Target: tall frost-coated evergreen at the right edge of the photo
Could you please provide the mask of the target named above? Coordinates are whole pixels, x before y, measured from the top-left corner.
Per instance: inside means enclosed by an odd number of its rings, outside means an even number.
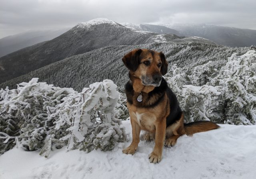
[[[221,92],[216,113],[222,113],[222,122],[229,124],[256,124],[256,51],[242,56],[236,53],[220,69],[212,84]]]

